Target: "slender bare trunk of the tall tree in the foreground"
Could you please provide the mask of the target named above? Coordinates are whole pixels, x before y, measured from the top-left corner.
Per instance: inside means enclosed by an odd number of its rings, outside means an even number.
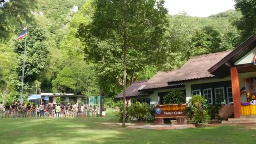
[[[123,36],[123,125],[122,127],[125,127],[125,117],[126,117],[126,104],[125,104],[125,96],[126,96],[126,53],[127,53],[127,48],[126,48],[126,20],[124,21],[124,36]]]

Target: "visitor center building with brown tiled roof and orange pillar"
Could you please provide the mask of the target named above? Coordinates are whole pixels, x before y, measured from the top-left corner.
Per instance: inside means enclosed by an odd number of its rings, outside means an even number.
[[[126,89],[126,98],[163,104],[163,96],[175,90],[183,91],[187,102],[202,95],[209,105],[222,104],[220,117],[235,117],[222,123],[256,122],[256,34],[233,51],[191,57],[180,69],[137,81]]]

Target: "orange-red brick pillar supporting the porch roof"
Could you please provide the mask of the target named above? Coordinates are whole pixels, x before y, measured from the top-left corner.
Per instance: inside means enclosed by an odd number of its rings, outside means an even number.
[[[231,75],[231,85],[233,94],[233,104],[234,104],[234,115],[235,118],[241,116],[241,100],[240,100],[240,87],[239,87],[239,77],[236,67],[230,68]]]

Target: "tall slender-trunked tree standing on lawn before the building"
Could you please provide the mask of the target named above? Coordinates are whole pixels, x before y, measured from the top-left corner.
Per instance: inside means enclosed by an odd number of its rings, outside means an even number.
[[[123,51],[123,127],[127,50],[139,50],[147,58],[153,54],[168,25],[167,13],[164,0],[96,0],[91,23],[78,29],[78,35],[92,48],[99,49],[97,43],[104,41]]]

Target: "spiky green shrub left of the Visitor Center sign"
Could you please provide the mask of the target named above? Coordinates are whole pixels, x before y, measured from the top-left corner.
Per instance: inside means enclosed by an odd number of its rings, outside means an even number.
[[[150,116],[149,104],[137,101],[136,103],[131,104],[127,109],[127,113],[131,117],[136,117],[138,122],[141,122],[142,119]]]

